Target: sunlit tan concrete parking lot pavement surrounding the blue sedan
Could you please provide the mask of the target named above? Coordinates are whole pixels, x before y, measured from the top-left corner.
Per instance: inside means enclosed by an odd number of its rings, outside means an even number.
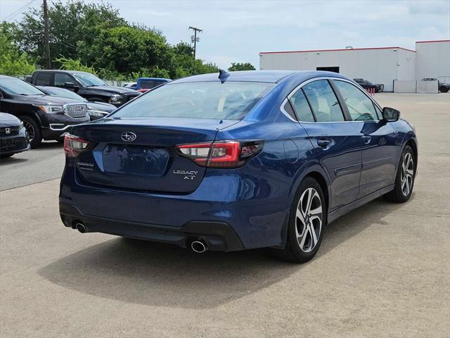
[[[450,94],[375,99],[416,125],[413,196],[331,223],[306,264],[79,234],[60,146],[2,163],[1,187],[54,180],[0,192],[0,337],[450,337]]]

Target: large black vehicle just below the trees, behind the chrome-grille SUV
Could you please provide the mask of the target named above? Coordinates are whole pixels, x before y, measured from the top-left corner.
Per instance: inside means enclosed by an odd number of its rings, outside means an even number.
[[[108,86],[96,75],[76,70],[37,70],[32,75],[31,83],[35,86],[63,87],[88,101],[106,102],[116,107],[139,96],[136,90]]]

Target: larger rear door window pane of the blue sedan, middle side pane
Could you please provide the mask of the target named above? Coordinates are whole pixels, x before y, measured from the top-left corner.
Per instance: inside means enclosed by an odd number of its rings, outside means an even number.
[[[327,80],[310,82],[303,87],[317,122],[345,121],[333,89]]]

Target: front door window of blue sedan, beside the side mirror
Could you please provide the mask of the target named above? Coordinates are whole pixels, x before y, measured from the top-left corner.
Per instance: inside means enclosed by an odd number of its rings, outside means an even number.
[[[342,98],[345,101],[352,120],[354,121],[373,121],[378,120],[375,107],[371,99],[361,92],[353,84],[344,81],[333,80]]]

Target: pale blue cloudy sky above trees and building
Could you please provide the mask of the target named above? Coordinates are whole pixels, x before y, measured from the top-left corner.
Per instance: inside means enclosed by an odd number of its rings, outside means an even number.
[[[28,2],[0,0],[0,19]],[[221,68],[231,62],[259,68],[260,51],[415,49],[416,41],[450,39],[450,0],[109,2],[130,22],[162,30],[171,44],[189,42],[190,25],[202,28],[197,56]],[[40,4],[35,0],[29,6]],[[12,21],[20,17],[18,13]]]

